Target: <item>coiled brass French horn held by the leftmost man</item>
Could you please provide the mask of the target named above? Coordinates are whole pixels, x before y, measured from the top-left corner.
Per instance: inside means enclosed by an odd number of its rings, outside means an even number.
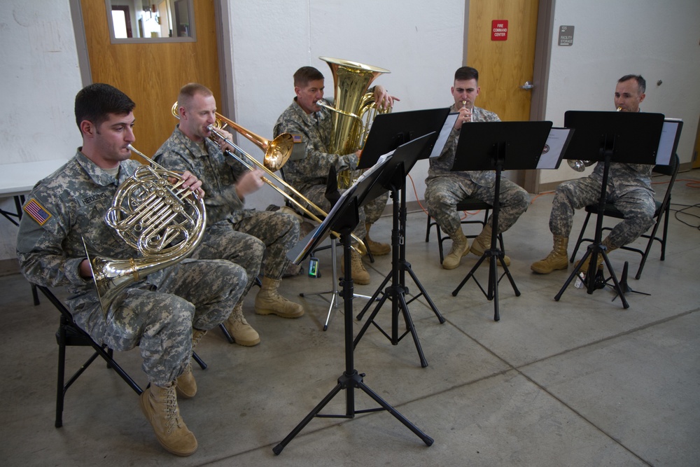
[[[91,258],[83,239],[97,297],[105,313],[123,288],[189,256],[202,241],[207,227],[204,200],[189,188],[181,188],[182,177],[133,146],[129,148],[156,168],[139,167],[117,188],[104,221],[141,256]],[[171,178],[176,179],[175,183],[169,181]]]

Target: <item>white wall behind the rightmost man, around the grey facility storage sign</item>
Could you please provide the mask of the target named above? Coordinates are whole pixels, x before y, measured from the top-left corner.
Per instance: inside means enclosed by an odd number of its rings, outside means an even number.
[[[575,26],[573,46],[558,46],[561,25]],[[678,157],[689,162],[700,117],[699,26],[697,0],[557,0],[545,118],[561,126],[568,110],[612,111],[617,80],[640,74],[640,108],[684,120]],[[543,170],[540,182],[576,178],[565,166]]]

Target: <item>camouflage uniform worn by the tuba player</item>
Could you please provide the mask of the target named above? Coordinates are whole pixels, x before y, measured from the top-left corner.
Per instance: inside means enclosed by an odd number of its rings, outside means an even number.
[[[285,181],[325,212],[330,211],[331,207],[330,202],[325,199],[330,168],[335,167],[336,172],[341,172],[346,169],[354,170],[358,164],[355,153],[328,153],[331,132],[332,116],[328,109],[322,107],[318,112],[307,114],[297,104],[296,98],[274,124],[274,136],[282,133],[292,134],[295,140],[295,154],[301,151],[303,155],[297,160],[293,160],[293,155],[284,165],[282,171]],[[365,223],[373,224],[379,220],[387,200],[388,193],[359,209],[360,221],[353,230],[358,238],[365,238],[367,235]]]

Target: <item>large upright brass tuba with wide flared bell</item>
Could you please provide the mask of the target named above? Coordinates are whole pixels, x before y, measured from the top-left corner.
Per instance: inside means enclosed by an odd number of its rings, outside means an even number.
[[[391,71],[337,58],[319,58],[328,63],[335,87],[335,106],[323,99],[316,102],[333,112],[328,152],[339,155],[354,153],[362,148],[377,113],[391,112],[391,109],[377,109],[374,96],[367,92],[377,76]],[[352,179],[351,171],[340,172],[338,188],[348,188]]]

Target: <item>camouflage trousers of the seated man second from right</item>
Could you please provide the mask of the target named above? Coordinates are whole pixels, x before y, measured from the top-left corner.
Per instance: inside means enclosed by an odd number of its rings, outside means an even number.
[[[439,177],[428,181],[426,187],[426,207],[428,213],[435,218],[437,225],[453,234],[461,229],[460,214],[457,212],[457,203],[469,197],[493,204],[493,187],[480,186],[468,179],[454,179],[451,177]],[[508,180],[500,180],[500,211],[498,211],[498,233],[505,232],[523,214],[530,204],[530,196],[516,183]],[[493,216],[488,223],[493,227]]]

